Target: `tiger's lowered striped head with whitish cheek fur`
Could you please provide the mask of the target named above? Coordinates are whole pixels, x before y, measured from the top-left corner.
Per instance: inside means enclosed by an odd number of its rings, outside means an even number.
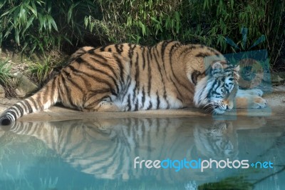
[[[197,82],[194,103],[197,107],[224,114],[234,106],[239,80],[239,66],[221,64],[217,61],[209,66],[206,76]]]

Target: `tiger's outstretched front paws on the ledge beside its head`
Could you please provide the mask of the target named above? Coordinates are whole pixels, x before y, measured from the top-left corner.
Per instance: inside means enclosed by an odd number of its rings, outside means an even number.
[[[262,109],[266,107],[267,101],[261,96],[263,91],[260,89],[248,89],[237,91],[236,103],[237,108],[248,108],[248,109]]]

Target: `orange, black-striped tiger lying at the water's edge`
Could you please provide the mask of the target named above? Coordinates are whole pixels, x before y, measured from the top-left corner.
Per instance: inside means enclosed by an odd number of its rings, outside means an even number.
[[[259,89],[238,87],[239,66],[208,46],[161,41],[78,49],[46,86],[6,109],[0,124],[57,102],[79,111],[140,111],[194,106],[214,114],[266,106]]]

